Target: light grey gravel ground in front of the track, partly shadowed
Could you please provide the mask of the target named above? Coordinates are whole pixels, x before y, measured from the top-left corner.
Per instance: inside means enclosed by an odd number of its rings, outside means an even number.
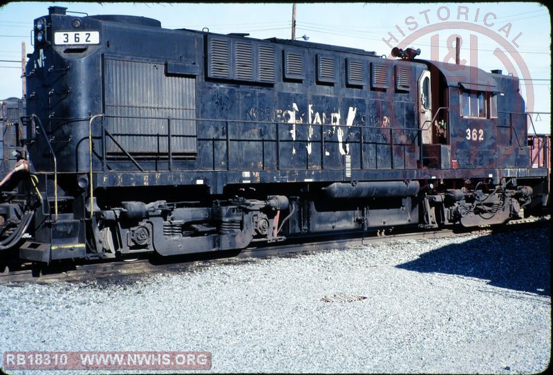
[[[210,351],[211,372],[532,374],[550,362],[549,228],[206,264],[0,286],[0,351]]]

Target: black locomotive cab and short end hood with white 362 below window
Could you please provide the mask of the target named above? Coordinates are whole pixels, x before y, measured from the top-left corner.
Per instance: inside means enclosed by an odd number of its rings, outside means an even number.
[[[525,163],[527,145],[521,140],[527,124],[518,79],[471,66],[427,65],[419,80],[422,167]]]

